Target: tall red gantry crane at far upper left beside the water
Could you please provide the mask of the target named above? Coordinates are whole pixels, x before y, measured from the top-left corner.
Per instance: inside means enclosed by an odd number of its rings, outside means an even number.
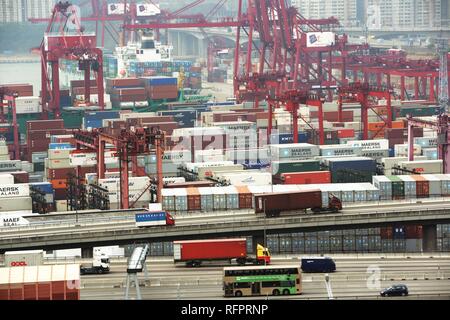
[[[68,25],[74,25],[70,31]],[[103,53],[96,48],[95,34],[84,34],[76,10],[69,2],[58,2],[52,12],[40,47],[42,118],[48,119],[50,113],[55,119],[61,116],[59,59],[76,60],[79,69],[84,71],[84,97],[90,100],[91,70],[96,78],[99,106],[104,108]]]

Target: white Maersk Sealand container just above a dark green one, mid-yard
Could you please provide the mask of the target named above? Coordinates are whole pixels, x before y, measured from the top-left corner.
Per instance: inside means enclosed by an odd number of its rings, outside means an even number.
[[[272,160],[308,159],[319,156],[320,149],[309,143],[272,144],[269,153]]]

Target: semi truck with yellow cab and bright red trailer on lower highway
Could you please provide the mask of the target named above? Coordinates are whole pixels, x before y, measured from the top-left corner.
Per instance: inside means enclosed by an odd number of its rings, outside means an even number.
[[[187,267],[200,267],[206,261],[270,264],[269,249],[258,244],[256,255],[249,255],[245,238],[174,241],[173,256],[174,263],[184,262]]]

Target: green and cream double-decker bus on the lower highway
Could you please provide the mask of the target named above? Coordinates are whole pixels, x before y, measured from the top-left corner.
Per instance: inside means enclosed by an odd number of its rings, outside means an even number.
[[[301,280],[295,265],[223,268],[225,297],[301,294]]]

